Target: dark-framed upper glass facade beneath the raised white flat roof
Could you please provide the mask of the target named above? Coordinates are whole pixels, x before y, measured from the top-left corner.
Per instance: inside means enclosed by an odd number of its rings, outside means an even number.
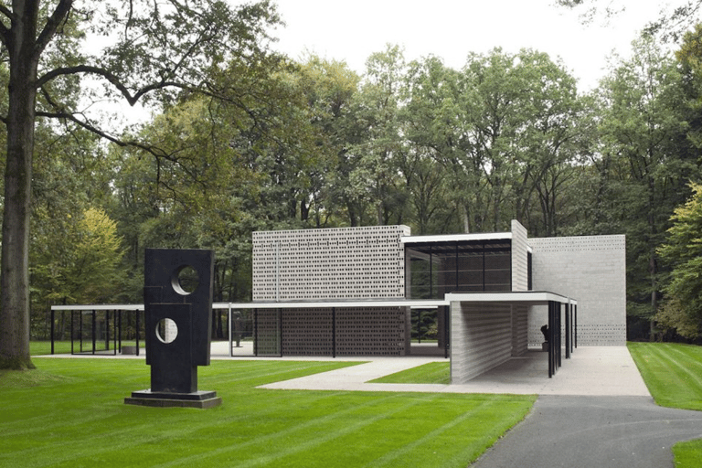
[[[511,252],[510,239],[407,244],[406,297],[443,299],[446,293],[511,291]]]

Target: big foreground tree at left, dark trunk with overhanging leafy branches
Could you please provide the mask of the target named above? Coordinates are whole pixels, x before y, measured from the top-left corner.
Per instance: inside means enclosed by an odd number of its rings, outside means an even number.
[[[261,38],[278,22],[264,1],[232,11],[224,1],[0,3],[0,55],[6,60],[5,202],[0,266],[0,367],[33,367],[29,357],[28,251],[34,130],[37,116],[70,120],[118,139],[83,118],[54,91],[90,75],[109,97],[130,104],[173,90],[204,90],[206,71],[231,56],[261,55]],[[90,32],[108,44],[81,56],[69,40]],[[93,43],[99,42],[92,37]],[[41,99],[37,99],[41,96]],[[157,154],[175,157],[173,154]]]

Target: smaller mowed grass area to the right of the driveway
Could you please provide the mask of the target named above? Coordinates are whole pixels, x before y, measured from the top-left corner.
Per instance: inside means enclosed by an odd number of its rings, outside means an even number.
[[[702,410],[702,347],[630,343],[629,350],[656,403]],[[702,440],[676,443],[673,454],[676,467],[702,466]]]

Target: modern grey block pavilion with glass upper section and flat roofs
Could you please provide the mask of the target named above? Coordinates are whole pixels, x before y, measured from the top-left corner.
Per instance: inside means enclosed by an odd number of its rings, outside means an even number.
[[[253,233],[256,356],[450,356],[452,383],[542,346],[626,341],[624,236],[411,236],[407,226]],[[429,320],[422,320],[421,317]],[[429,323],[431,345],[413,342]],[[421,336],[421,335],[420,335]]]

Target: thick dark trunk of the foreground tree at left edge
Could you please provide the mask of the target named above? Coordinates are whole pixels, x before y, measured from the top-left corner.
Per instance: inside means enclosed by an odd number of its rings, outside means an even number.
[[[16,8],[20,10],[22,8]],[[29,357],[29,217],[37,90],[36,5],[16,11],[8,41],[7,154],[0,262],[0,367],[32,368]]]

